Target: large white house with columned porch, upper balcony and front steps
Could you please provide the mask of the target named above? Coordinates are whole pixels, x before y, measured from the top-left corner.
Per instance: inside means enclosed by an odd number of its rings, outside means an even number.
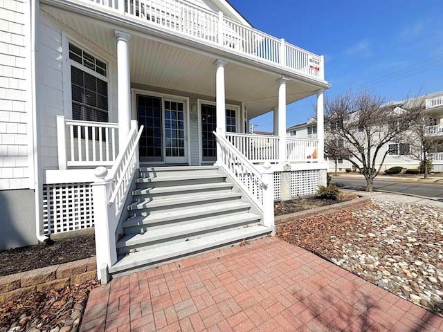
[[[323,57],[228,1],[10,0],[0,13],[0,250],[95,225],[98,275],[119,275],[272,233],[273,199],[325,183],[323,128],[284,136],[287,104],[317,95],[323,118]],[[264,138],[248,122],[271,110],[268,151],[251,159]]]

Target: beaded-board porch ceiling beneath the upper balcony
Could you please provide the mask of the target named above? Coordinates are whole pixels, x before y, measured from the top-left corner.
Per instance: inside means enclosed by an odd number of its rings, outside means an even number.
[[[287,104],[316,93],[321,88],[315,82],[288,75],[284,69],[263,66],[251,59],[217,48],[208,49],[204,44],[165,42],[152,31],[131,31],[109,21],[91,19],[75,12],[42,4],[42,10],[61,24],[69,35],[89,41],[95,48],[116,58],[114,29],[132,34],[130,42],[130,68],[132,84],[157,86],[174,91],[186,91],[201,98],[215,98],[215,61],[224,59],[226,100],[245,102],[248,117],[254,118],[278,106],[278,80],[282,74],[287,81]],[[164,34],[163,34],[164,35]],[[164,36],[163,36],[164,37]],[[87,43],[86,43],[87,44]],[[88,46],[88,44],[87,44]],[[98,54],[100,55],[100,54]]]

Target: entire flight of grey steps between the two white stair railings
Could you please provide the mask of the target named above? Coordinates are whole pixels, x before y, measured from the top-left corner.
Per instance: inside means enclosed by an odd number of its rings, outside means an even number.
[[[114,277],[263,237],[262,213],[218,167],[141,167]]]

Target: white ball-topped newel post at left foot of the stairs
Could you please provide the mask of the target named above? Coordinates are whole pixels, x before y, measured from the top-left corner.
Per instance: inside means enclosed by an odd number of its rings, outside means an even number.
[[[108,205],[111,196],[111,181],[105,180],[107,174],[106,167],[97,167],[94,172],[97,181],[91,183],[96,234],[97,279],[101,280],[102,284],[109,282],[108,268],[117,261],[116,234],[110,225],[113,213],[115,216],[115,208],[114,205]]]

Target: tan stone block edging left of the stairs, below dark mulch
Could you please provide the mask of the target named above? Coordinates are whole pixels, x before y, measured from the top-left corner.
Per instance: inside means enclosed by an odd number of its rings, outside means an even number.
[[[0,304],[30,293],[80,284],[97,277],[96,257],[0,277]]]

